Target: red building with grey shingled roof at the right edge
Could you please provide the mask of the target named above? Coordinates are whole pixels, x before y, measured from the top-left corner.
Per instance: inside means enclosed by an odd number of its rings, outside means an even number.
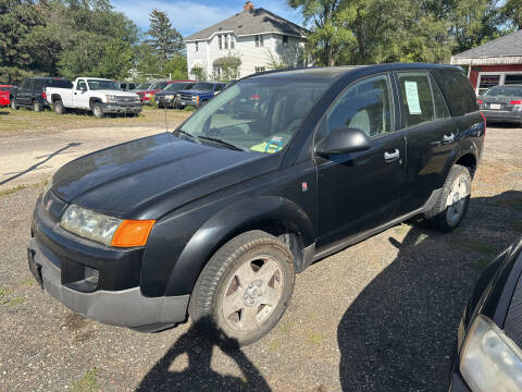
[[[451,64],[468,69],[477,95],[493,86],[522,85],[522,30],[456,54]]]

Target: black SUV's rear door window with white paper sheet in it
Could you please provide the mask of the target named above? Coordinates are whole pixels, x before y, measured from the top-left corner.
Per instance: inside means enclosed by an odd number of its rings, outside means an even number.
[[[434,118],[433,99],[425,71],[399,72],[405,126],[414,126]]]

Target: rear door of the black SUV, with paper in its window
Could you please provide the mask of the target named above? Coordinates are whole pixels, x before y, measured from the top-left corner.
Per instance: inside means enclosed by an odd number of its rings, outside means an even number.
[[[396,72],[407,138],[406,183],[400,213],[422,207],[440,186],[457,143],[457,128],[438,85],[427,71]]]

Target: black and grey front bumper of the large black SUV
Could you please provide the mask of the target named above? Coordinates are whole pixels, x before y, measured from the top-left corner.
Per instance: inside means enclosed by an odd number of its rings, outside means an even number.
[[[51,210],[59,199],[53,197],[53,201]],[[186,320],[189,295],[142,295],[140,249],[119,250],[64,231],[42,208],[41,198],[37,201],[32,231],[29,269],[37,281],[41,279],[44,289],[70,309],[102,323],[142,332]],[[87,269],[99,271],[94,286],[86,284]]]

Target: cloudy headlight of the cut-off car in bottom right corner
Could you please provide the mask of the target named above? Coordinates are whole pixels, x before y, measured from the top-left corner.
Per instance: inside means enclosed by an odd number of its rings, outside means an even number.
[[[522,391],[522,351],[481,315],[462,345],[460,372],[473,392]]]

